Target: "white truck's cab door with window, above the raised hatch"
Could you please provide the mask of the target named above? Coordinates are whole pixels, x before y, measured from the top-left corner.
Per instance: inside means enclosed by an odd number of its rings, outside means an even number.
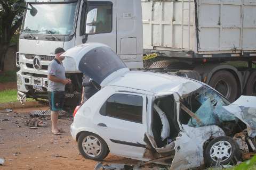
[[[82,1],[76,45],[103,43],[116,52],[116,0]]]

